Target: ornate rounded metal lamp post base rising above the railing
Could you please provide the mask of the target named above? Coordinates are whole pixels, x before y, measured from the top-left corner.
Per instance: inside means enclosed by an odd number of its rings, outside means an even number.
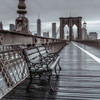
[[[25,0],[19,0],[17,13],[19,17],[17,17],[15,21],[16,31],[29,34],[29,21],[25,17],[25,14],[27,14]]]

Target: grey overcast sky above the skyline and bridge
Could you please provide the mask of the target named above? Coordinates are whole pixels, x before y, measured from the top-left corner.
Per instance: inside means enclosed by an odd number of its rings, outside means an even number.
[[[0,0],[0,21],[4,29],[15,23],[18,0]],[[30,30],[36,33],[36,20],[41,15],[42,32],[50,31],[52,22],[59,26],[59,17],[82,16],[88,32],[100,34],[100,0],[26,0]]]

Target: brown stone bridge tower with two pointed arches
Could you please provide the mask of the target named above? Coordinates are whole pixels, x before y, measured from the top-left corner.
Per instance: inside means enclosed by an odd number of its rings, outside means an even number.
[[[82,39],[82,17],[61,17],[60,18],[60,39],[64,39],[64,27],[69,26],[69,41],[73,40],[73,25],[77,25],[77,39]]]

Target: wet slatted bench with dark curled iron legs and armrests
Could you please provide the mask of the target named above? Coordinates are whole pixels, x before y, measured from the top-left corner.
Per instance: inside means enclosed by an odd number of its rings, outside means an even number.
[[[54,92],[54,89],[50,84],[50,80],[53,70],[55,71],[56,77],[59,77],[56,68],[58,65],[59,70],[61,70],[59,65],[60,56],[56,53],[48,53],[43,46],[24,49],[23,54],[26,62],[28,63],[30,73],[30,82],[26,90],[29,90],[33,76],[37,75],[40,80],[41,77],[44,77],[50,87],[50,92]],[[39,88],[41,88],[41,86],[39,86]]]

